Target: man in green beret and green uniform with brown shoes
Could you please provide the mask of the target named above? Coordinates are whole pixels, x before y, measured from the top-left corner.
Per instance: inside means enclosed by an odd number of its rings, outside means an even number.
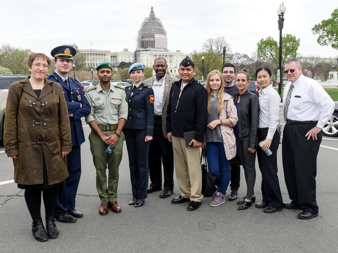
[[[110,84],[113,76],[112,65],[102,62],[96,70],[100,84],[86,90],[86,97],[92,108],[85,119],[92,129],[89,142],[96,168],[96,189],[101,200],[99,214],[106,215],[108,206],[114,213],[121,212],[117,203],[117,185],[124,138],[122,129],[128,115],[128,104],[124,89]],[[105,151],[107,146],[113,147],[112,153]]]

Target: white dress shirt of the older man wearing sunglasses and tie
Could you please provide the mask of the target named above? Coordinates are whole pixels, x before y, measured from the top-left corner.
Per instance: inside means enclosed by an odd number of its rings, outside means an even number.
[[[291,82],[284,89],[283,107],[290,85]],[[335,109],[329,94],[317,81],[304,75],[301,75],[293,85],[286,118],[297,121],[318,120],[317,127],[323,128]]]

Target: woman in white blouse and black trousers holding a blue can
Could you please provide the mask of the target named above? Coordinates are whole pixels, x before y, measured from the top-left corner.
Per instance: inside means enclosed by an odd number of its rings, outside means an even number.
[[[283,199],[277,176],[277,149],[279,147],[279,133],[277,125],[281,97],[273,89],[270,81],[271,70],[260,67],[256,71],[257,82],[262,88],[259,90],[259,129],[258,143],[263,141],[262,147],[257,145],[257,158],[262,173],[262,202],[257,208],[264,208],[265,213],[275,213],[283,209]],[[272,154],[267,156],[264,150],[270,149]]]

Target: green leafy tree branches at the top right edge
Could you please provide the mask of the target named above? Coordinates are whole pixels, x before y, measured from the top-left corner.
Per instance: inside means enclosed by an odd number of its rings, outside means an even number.
[[[321,46],[331,46],[338,50],[338,9],[331,13],[331,18],[323,20],[312,28],[313,34],[318,34],[317,42]]]

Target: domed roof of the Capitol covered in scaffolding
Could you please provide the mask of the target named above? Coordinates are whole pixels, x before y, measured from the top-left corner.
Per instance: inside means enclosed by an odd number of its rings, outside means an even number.
[[[158,38],[156,44],[155,37]],[[155,17],[155,12],[151,7],[149,17],[144,19],[138,31],[137,49],[156,48],[158,45],[163,45],[162,49],[167,49],[167,31],[164,29],[161,20]]]

